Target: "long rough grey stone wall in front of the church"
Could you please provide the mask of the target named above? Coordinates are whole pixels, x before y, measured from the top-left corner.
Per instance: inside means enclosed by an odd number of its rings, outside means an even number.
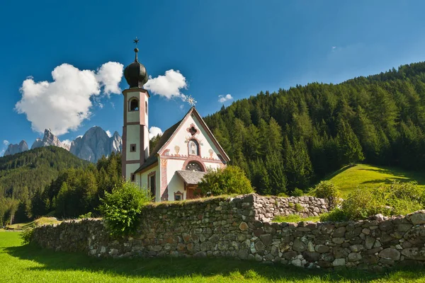
[[[298,198],[327,210],[327,201]],[[283,203],[289,203],[283,200]],[[311,204],[311,205],[310,205]],[[33,243],[96,257],[230,257],[300,267],[382,268],[425,262],[425,211],[344,223],[263,221],[288,212],[275,197],[246,195],[147,207],[136,236],[111,238],[101,219],[35,229]],[[289,205],[288,205],[289,207]],[[292,209],[292,207],[289,207]]]

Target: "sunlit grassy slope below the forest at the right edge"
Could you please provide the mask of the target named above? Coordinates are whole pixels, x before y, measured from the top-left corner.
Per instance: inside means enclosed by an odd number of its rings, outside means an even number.
[[[341,168],[329,176],[327,180],[337,185],[341,189],[343,197],[346,197],[357,188],[378,187],[395,180],[399,182],[416,181],[419,185],[425,185],[425,173],[403,171],[385,166],[357,164],[356,166]]]

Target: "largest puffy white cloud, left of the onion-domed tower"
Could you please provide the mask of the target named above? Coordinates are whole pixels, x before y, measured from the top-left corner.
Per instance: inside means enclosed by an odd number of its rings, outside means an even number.
[[[103,92],[120,93],[118,83],[123,76],[123,65],[103,64],[98,70],[79,70],[62,64],[52,71],[52,82],[36,82],[29,77],[22,83],[22,98],[15,105],[36,132],[52,129],[56,135],[78,129],[81,122],[91,117],[91,98]]]

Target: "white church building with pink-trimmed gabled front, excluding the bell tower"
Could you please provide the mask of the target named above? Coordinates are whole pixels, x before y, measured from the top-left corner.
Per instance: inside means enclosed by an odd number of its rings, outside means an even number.
[[[135,181],[151,190],[157,202],[196,197],[203,175],[224,168],[229,157],[196,108],[167,129],[147,161],[135,171]]]

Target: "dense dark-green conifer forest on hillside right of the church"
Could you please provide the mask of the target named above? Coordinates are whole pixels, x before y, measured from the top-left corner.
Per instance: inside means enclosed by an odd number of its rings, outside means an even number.
[[[307,189],[358,161],[425,172],[425,62],[261,92],[205,122],[262,194]]]

